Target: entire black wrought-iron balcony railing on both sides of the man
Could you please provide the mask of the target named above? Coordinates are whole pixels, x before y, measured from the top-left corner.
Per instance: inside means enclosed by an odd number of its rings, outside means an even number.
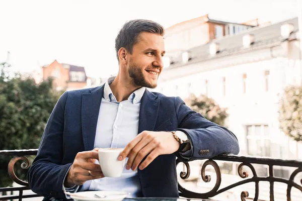
[[[9,199],[19,199],[22,200],[22,198],[29,198],[29,197],[38,197],[40,195],[38,194],[23,194],[24,190],[29,190],[28,183],[25,181],[20,180],[15,172],[14,172],[14,166],[17,161],[24,161],[21,164],[21,168],[28,169],[30,167],[30,161],[26,156],[29,155],[36,155],[37,149],[31,149],[31,150],[3,150],[0,151],[0,156],[14,156],[9,162],[8,165],[8,173],[10,177],[15,181],[16,183],[20,184],[21,187],[0,187],[0,192],[9,192],[9,191],[19,191],[19,195],[4,195],[0,196],[0,200],[9,200]],[[229,186],[220,188],[221,184],[221,171],[220,167],[215,161],[231,161],[231,162],[239,162],[238,166],[238,174],[241,178],[244,178],[244,180],[235,182]],[[183,163],[176,160],[176,163]],[[256,169],[252,164],[261,164],[268,166],[268,176],[258,176]],[[186,166],[186,171],[180,172],[180,177],[182,179],[188,179],[190,176],[190,165],[189,163],[184,163]],[[201,178],[204,182],[209,182],[211,180],[211,177],[209,175],[205,174],[205,168],[207,166],[212,166],[215,174],[216,174],[216,182],[214,187],[205,193],[198,193],[190,191],[186,188],[184,188],[180,183],[178,183],[179,188],[179,195],[183,197],[188,198],[211,198],[217,194],[220,194],[222,192],[225,192],[227,190],[230,190],[236,186],[240,186],[246,183],[255,183],[255,194],[251,197],[253,197],[253,200],[258,200],[259,197],[259,182],[260,181],[266,181],[269,182],[269,195],[270,200],[274,200],[274,183],[275,182],[281,182],[285,183],[287,185],[286,190],[286,197],[287,200],[291,200],[291,189],[292,187],[298,189],[302,193],[302,179],[299,181],[300,183],[294,182],[295,176],[302,172],[302,161],[295,161],[295,160],[279,160],[279,159],[269,159],[269,158],[253,158],[253,157],[243,157],[243,156],[233,156],[233,155],[221,155],[216,156],[212,159],[206,160],[201,168]],[[243,167],[246,166],[250,168],[252,172],[252,176],[249,178],[248,172],[243,170]],[[289,176],[289,179],[279,178],[275,177],[273,174],[273,167],[274,166],[283,166],[283,167],[292,167],[294,170],[292,171],[291,175]],[[220,189],[219,189],[220,188]],[[284,192],[285,193],[285,192]],[[248,191],[242,191],[241,192],[241,200],[246,200],[249,196]]]

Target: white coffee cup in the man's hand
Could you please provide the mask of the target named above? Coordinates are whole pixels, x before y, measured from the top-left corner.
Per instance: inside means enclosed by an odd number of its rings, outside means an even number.
[[[99,163],[104,176],[119,177],[121,176],[125,159],[119,161],[117,158],[123,151],[123,148],[100,148],[99,149]]]

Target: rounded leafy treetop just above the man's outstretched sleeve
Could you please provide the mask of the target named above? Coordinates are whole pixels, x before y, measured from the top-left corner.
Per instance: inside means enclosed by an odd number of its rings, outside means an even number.
[[[205,119],[224,126],[228,113],[226,113],[226,109],[220,108],[213,98],[203,94],[199,96],[191,94],[185,102],[192,110],[200,113]]]

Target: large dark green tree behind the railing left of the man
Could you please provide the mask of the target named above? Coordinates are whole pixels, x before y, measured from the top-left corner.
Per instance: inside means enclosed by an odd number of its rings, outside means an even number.
[[[0,147],[2,150],[38,148],[61,92],[53,90],[51,78],[36,84],[31,77],[10,75],[9,70],[7,63],[0,64]],[[7,169],[10,159],[0,157],[1,187],[13,182]],[[26,179],[26,171],[19,169],[19,177]]]

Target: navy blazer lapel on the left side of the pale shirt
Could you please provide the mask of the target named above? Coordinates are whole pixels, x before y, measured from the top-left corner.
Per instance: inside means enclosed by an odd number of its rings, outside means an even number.
[[[82,135],[85,151],[90,151],[94,147],[103,93],[104,84],[82,96]]]

